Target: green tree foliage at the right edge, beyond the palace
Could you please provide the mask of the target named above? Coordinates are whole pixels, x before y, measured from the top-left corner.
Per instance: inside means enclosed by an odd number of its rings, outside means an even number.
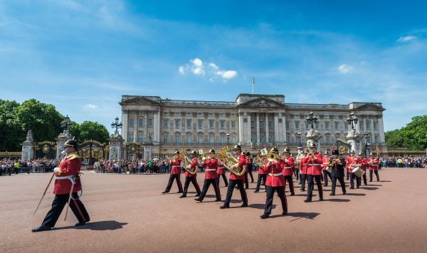
[[[427,148],[427,115],[412,118],[406,127],[385,133],[387,147],[424,150]]]

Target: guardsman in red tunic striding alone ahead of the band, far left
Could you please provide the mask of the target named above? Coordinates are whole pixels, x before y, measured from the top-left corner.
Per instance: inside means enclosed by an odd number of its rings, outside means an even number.
[[[90,221],[88,211],[86,211],[85,206],[80,201],[81,195],[79,197],[77,193],[82,190],[79,176],[81,160],[77,154],[77,142],[75,140],[67,140],[64,147],[66,148],[65,158],[53,170],[56,178],[55,186],[53,187],[55,197],[53,198],[51,210],[49,210],[41,226],[31,229],[32,232],[47,231],[55,227],[60,213],[68,203],[69,197],[71,197],[70,208],[78,220],[75,227],[83,226]]]

